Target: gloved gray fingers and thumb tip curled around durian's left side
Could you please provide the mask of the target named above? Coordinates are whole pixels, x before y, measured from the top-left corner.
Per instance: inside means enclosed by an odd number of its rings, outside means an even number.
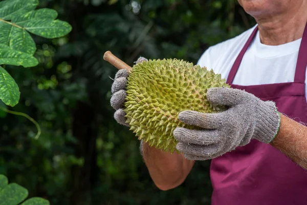
[[[143,61],[148,61],[148,60],[144,57],[139,57],[139,59],[135,63],[139,64],[142,63]],[[119,124],[129,127],[129,125],[126,123],[126,117],[125,117],[126,113],[123,110],[126,98],[125,88],[128,76],[129,72],[125,69],[117,71],[111,88],[112,92],[111,106],[116,110],[114,113],[115,120]]]

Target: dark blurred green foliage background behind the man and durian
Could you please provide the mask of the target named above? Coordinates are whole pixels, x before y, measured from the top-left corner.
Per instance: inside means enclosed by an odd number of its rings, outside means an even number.
[[[6,69],[21,92],[11,108],[36,119],[0,113],[0,174],[51,204],[210,204],[209,161],[196,162],[182,186],[160,191],[139,154],[139,141],[117,124],[109,105],[117,69],[140,56],[196,63],[211,45],[255,23],[235,0],[40,0],[73,30],[53,40],[33,36],[34,68]],[[3,105],[2,105],[3,106]]]

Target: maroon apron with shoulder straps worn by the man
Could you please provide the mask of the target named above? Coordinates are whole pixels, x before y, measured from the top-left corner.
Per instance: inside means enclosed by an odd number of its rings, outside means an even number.
[[[294,83],[256,86],[232,84],[257,30],[255,28],[235,60],[227,83],[232,88],[245,90],[262,100],[275,101],[280,113],[307,123],[307,26],[301,40]],[[273,146],[255,139],[244,147],[212,159],[210,176],[213,186],[212,205],[307,204],[307,172]]]

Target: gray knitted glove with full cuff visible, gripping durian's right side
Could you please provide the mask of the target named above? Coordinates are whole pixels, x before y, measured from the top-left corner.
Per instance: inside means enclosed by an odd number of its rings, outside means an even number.
[[[262,101],[253,94],[232,88],[211,88],[207,99],[226,105],[221,113],[183,111],[179,119],[202,130],[177,128],[173,135],[177,149],[190,160],[212,159],[247,145],[251,139],[270,143],[280,126],[280,115],[273,101]]]

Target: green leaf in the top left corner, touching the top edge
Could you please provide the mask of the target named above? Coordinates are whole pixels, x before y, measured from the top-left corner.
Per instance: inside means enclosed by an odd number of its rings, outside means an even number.
[[[5,0],[0,2],[0,18],[10,20],[14,16],[20,16],[35,9],[38,0]]]

